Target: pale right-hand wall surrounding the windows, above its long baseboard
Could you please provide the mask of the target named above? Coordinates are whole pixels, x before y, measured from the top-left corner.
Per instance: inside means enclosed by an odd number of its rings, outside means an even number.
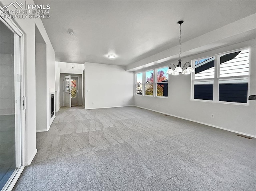
[[[182,63],[244,47],[251,47],[249,95],[256,95],[256,39],[182,58]],[[175,64],[176,60],[158,65],[157,67],[170,65],[170,63]],[[249,100],[249,106],[192,101],[190,100],[190,91],[190,75],[169,75],[168,98],[135,95],[134,102],[136,106],[256,137],[256,101]],[[214,118],[211,118],[211,114],[214,114]]]

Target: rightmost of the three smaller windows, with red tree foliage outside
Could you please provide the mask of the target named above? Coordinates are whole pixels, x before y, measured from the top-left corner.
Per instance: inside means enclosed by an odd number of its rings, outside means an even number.
[[[168,96],[168,67],[158,68],[156,79],[156,96]]]

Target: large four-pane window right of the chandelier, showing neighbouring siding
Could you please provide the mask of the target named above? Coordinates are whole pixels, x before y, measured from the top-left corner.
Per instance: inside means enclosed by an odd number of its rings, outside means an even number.
[[[242,49],[195,60],[194,99],[247,103],[249,53]]]

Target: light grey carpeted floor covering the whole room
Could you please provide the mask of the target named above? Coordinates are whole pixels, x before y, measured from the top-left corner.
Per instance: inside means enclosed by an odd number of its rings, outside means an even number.
[[[137,107],[62,107],[15,191],[255,191],[256,139]]]

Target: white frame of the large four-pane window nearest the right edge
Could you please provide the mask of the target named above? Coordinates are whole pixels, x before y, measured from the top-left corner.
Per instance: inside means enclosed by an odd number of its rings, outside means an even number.
[[[243,51],[243,50],[249,50],[249,67],[248,67],[248,75],[241,75],[241,76],[228,76],[228,77],[220,77],[220,57],[229,53],[234,53],[237,51]],[[247,84],[247,96],[250,95],[250,68],[251,68],[251,48],[250,47],[244,47],[240,49],[235,49],[232,51],[226,51],[224,53],[218,53],[216,55],[210,55],[207,57],[202,57],[198,59],[193,59],[191,61],[192,67],[195,68],[195,61],[200,60],[200,59],[205,59],[209,57],[214,57],[214,78],[207,78],[207,79],[195,79],[195,73],[192,73],[191,75],[191,95],[190,95],[190,100],[192,101],[202,101],[202,102],[217,102],[217,103],[224,103],[224,104],[235,104],[235,105],[246,105],[249,106],[249,102],[247,103],[241,103],[241,102],[228,102],[228,101],[220,101],[219,100],[219,81],[220,80],[231,80],[231,79],[247,79],[248,84]],[[194,83],[198,81],[210,81],[213,80],[213,100],[202,100],[202,99],[194,99]]]

